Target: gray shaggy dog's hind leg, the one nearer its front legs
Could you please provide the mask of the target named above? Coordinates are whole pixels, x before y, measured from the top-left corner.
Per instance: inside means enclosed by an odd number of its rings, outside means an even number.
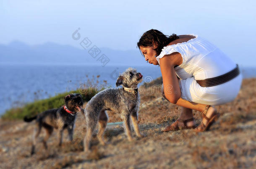
[[[107,126],[107,113],[106,111],[102,110],[99,113],[99,132],[97,134],[97,137],[99,139],[100,144],[105,145],[104,139],[103,139],[103,133]]]

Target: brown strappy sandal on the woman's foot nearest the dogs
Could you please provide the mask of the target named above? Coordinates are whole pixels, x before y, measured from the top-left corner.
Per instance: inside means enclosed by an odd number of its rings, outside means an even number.
[[[176,125],[173,125],[171,124],[170,126],[166,126],[165,129],[162,130],[162,132],[167,132],[167,131],[177,131],[177,130],[183,130],[183,129],[195,129],[196,126],[187,126],[187,122],[189,121],[194,121],[195,119],[194,118],[191,118],[191,119],[187,119],[187,120],[181,120],[181,119],[178,119],[176,120],[173,124],[176,123]],[[179,123],[183,123],[183,125],[179,125]]]

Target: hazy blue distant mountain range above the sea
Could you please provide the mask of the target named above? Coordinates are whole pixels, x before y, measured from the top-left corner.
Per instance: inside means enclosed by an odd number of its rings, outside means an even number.
[[[92,47],[92,46],[91,46]],[[68,64],[97,64],[104,65],[107,59],[100,59],[104,54],[109,62],[106,65],[147,65],[139,50],[112,50],[99,48],[101,51],[92,57],[91,49],[75,48],[70,45],[44,43],[42,45],[26,45],[20,41],[13,41],[8,45],[0,44],[0,63],[68,63]],[[106,59],[106,60],[105,60]]]

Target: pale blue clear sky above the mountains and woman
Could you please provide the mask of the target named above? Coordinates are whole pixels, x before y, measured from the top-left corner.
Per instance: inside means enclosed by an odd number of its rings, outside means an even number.
[[[166,35],[196,34],[242,66],[256,67],[253,0],[0,0],[1,44],[18,40],[79,48],[72,38],[78,28],[97,47],[115,50],[136,50],[152,28]]]

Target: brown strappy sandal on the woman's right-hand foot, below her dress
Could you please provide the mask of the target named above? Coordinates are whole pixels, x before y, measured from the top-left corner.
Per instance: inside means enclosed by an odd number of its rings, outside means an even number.
[[[204,111],[202,112],[202,118],[206,119],[208,122],[206,125],[204,125],[203,120],[201,122],[201,124],[199,126],[196,127],[195,131],[196,132],[202,132],[202,131],[207,131],[209,130],[210,126],[212,126],[212,124],[217,121],[217,119],[219,118],[220,114],[216,113],[214,115],[212,115],[211,118],[206,117],[206,113],[209,109],[210,105],[207,105],[204,109]]]

